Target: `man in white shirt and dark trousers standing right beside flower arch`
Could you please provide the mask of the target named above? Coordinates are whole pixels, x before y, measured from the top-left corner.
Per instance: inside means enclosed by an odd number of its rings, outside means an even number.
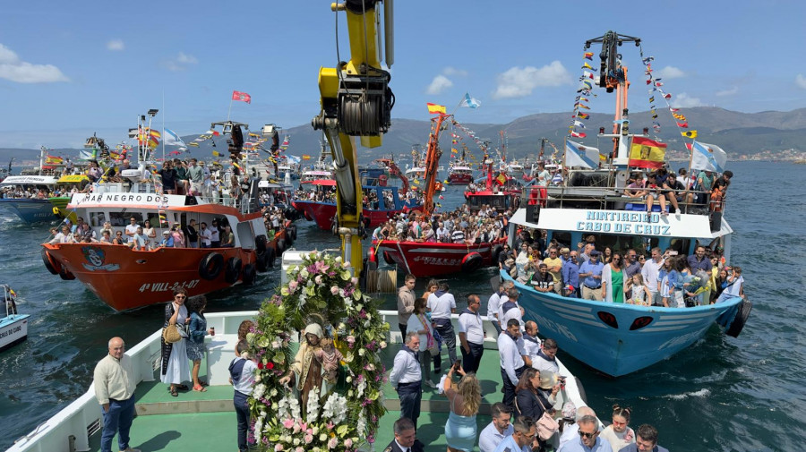
[[[417,418],[420,417],[420,401],[423,399],[423,373],[417,352],[420,350],[420,335],[409,331],[406,344],[395,355],[395,362],[389,374],[392,388],[398,391],[400,399],[400,417],[407,417],[414,422],[417,430]]]

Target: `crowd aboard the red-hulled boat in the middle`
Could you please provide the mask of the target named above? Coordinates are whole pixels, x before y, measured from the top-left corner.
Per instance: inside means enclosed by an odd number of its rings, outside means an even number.
[[[507,235],[511,210],[500,213],[488,205],[471,213],[467,205],[427,216],[399,213],[373,231],[373,240],[424,243],[492,243]]]

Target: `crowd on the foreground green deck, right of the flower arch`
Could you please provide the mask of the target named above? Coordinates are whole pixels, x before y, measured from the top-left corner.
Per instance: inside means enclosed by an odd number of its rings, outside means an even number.
[[[467,295],[457,335],[451,314],[458,303],[450,287],[431,280],[424,294],[417,296],[415,286],[416,278],[407,275],[398,291],[404,345],[395,356],[389,379],[398,392],[401,417],[386,451],[426,450],[429,446],[416,439],[424,390],[437,391],[448,399],[450,413],[444,426],[448,452],[469,452],[476,445],[482,452],[666,450],[657,445],[655,427],[630,428],[628,407],[613,405],[612,423],[604,428],[590,407],[578,409],[560,374],[556,341],[538,337],[536,322],[524,322],[519,291],[511,281],[502,281],[487,304],[487,320],[499,332],[503,397],[492,406],[492,422],[479,431],[479,405],[482,397],[491,396],[484,394],[476,377],[482,356],[489,353],[484,350],[481,300],[476,294]],[[448,355],[448,371],[434,383],[433,374],[442,373],[443,354]]]

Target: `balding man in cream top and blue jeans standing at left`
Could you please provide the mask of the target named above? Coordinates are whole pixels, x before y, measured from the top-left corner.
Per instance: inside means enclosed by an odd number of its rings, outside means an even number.
[[[117,436],[121,452],[140,452],[129,447],[129,430],[134,419],[134,370],[132,358],[124,354],[123,339],[109,340],[109,354],[96,366],[93,374],[95,398],[101,405],[103,432],[101,452],[112,452],[112,438]]]

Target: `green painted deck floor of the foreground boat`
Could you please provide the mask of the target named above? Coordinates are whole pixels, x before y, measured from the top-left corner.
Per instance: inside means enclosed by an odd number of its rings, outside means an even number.
[[[382,351],[382,361],[391,368],[399,345],[390,345]],[[447,369],[447,353],[443,350],[442,370]],[[201,364],[201,380],[204,362]],[[482,407],[476,417],[478,431],[490,422],[490,405],[500,402],[501,371],[498,352],[484,350],[482,365],[478,371],[482,386]],[[155,371],[155,377],[159,374]],[[431,379],[438,383],[440,375],[432,371]],[[232,406],[232,387],[211,386],[206,392],[179,391],[171,397],[167,385],[159,380],[142,382],[135,392],[137,417],[132,425],[130,446],[143,452],[152,451],[236,451],[236,415]],[[389,384],[384,385],[385,405],[390,411],[381,419],[376,435],[375,450],[382,450],[394,438],[392,424],[399,419],[399,402],[396,392]],[[417,421],[417,438],[427,450],[444,450],[445,422],[448,420],[447,398],[436,389],[425,387],[420,418]],[[117,437],[113,450],[117,450]],[[90,439],[90,450],[100,450],[100,433]]]

